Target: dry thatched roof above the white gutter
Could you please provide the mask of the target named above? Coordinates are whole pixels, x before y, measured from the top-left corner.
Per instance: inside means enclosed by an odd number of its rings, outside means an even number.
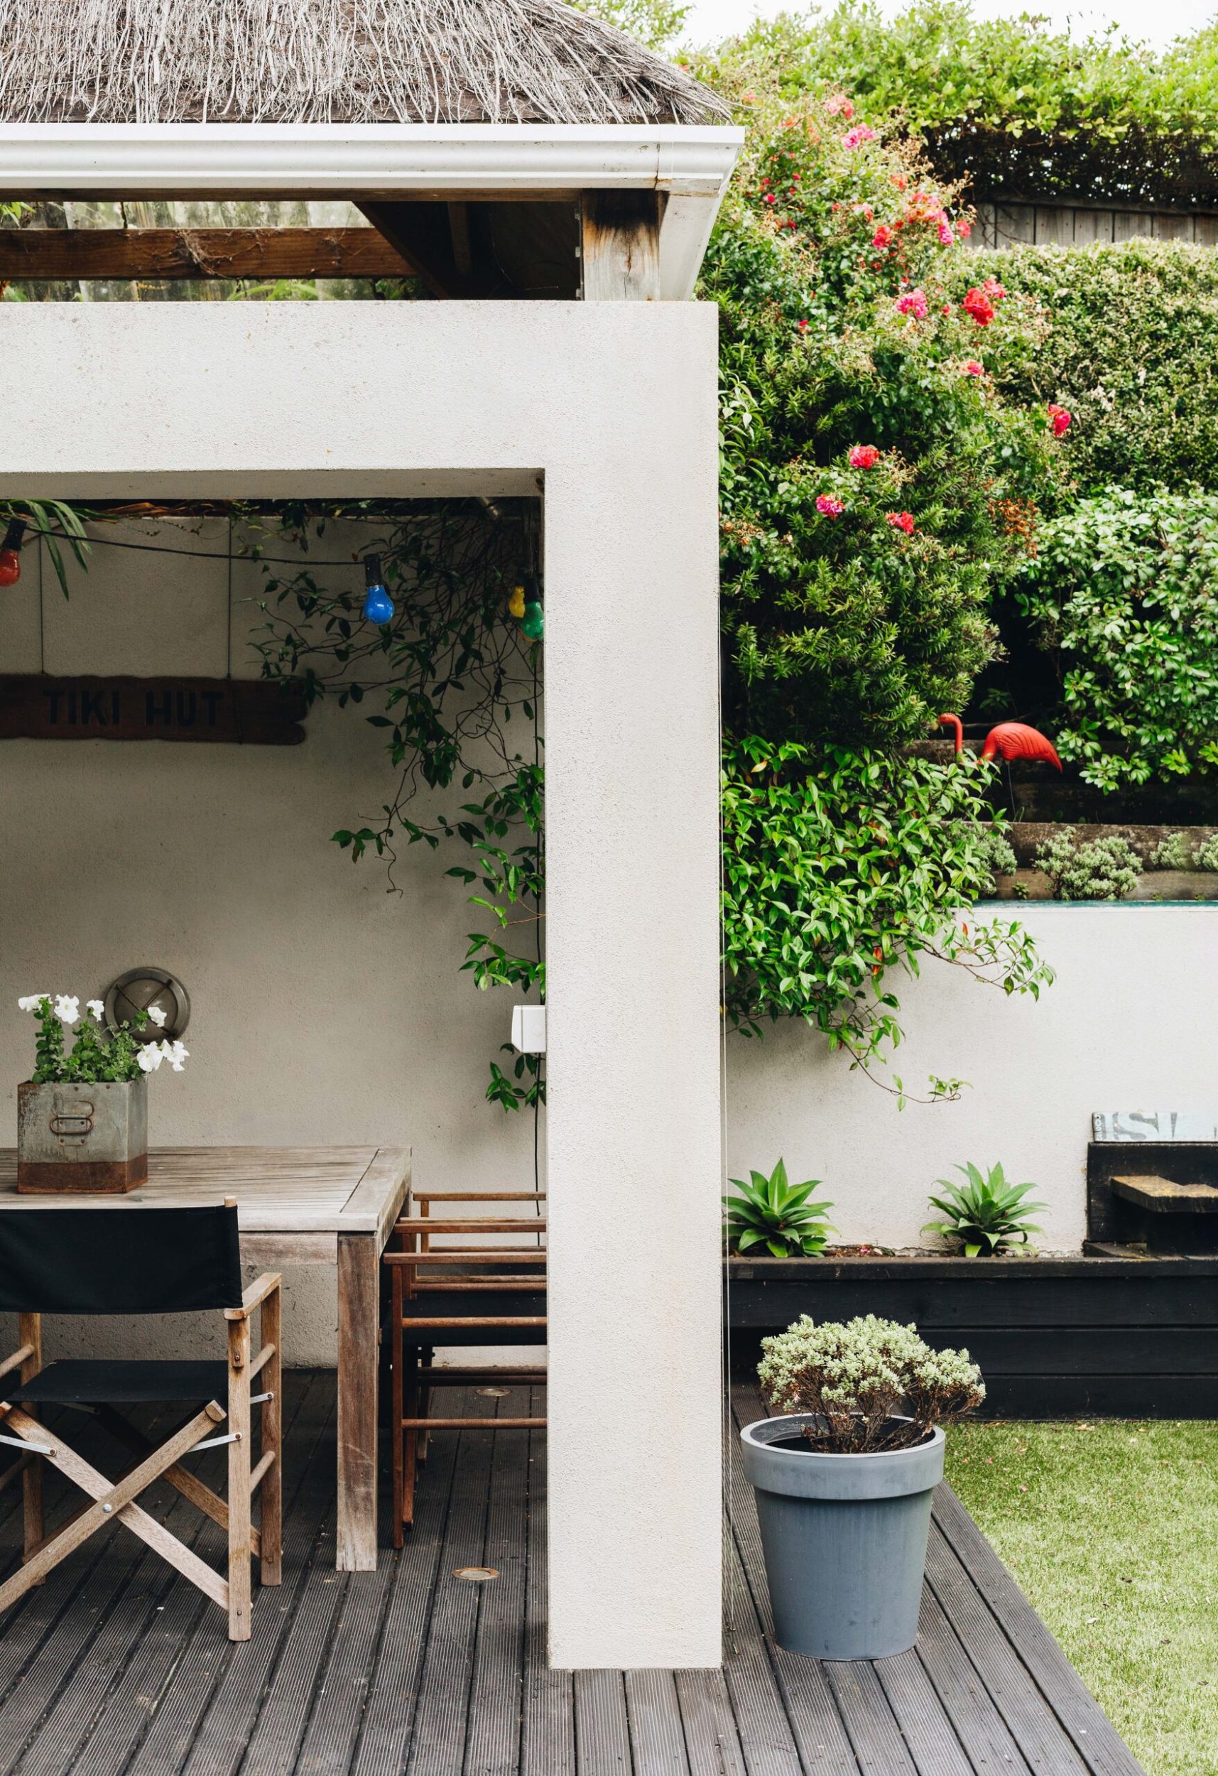
[[[559,0],[0,0],[4,123],[719,123]]]

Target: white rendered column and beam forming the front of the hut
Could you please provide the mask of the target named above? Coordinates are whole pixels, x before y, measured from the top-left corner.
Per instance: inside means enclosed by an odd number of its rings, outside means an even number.
[[[0,343],[5,496],[543,488],[550,1655],[716,1664],[714,311],[5,304]]]

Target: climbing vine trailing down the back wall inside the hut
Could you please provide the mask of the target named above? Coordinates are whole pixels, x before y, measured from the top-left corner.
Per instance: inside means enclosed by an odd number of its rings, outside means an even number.
[[[346,575],[309,559],[336,520],[360,522],[360,558],[380,556],[391,622],[362,620],[359,563]],[[272,519],[247,515],[245,549],[265,574],[265,675],[295,678],[311,705],[362,710],[385,737],[389,799],[375,821],[334,833],[336,844],[355,861],[382,858],[391,884],[399,844],[465,845],[469,861],[447,876],[469,890],[485,929],[469,932],[462,968],[483,991],[543,995],[540,643],[511,618],[533,524],[524,501],[279,506]],[[284,572],[284,543],[300,551],[298,568]],[[430,794],[444,790],[467,799],[446,810]],[[504,1110],[543,1101],[542,1058],[515,1055],[508,1071],[492,1062],[486,1098]]]

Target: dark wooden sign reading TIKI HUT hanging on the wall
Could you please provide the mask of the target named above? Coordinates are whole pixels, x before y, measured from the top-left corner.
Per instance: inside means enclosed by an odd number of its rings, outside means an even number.
[[[305,696],[270,678],[0,675],[0,741],[298,746]]]

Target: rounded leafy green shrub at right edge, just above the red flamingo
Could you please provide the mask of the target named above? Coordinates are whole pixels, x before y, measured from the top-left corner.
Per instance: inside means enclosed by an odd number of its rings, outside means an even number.
[[[1117,789],[1218,765],[1218,494],[1110,488],[1042,526],[1017,602],[1060,678],[1053,744]]]

